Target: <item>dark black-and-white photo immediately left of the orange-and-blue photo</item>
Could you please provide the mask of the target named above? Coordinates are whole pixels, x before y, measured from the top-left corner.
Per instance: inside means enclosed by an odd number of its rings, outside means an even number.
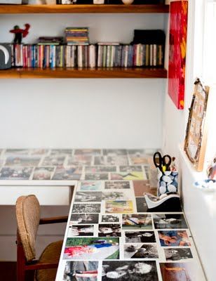
[[[126,243],[156,243],[154,231],[126,231]]]

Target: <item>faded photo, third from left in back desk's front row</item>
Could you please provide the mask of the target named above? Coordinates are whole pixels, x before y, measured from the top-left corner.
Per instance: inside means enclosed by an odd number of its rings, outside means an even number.
[[[79,180],[81,178],[81,172],[81,166],[57,166],[52,179],[58,181]]]

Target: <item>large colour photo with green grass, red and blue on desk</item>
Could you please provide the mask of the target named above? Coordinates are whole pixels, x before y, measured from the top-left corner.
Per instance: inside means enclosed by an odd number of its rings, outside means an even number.
[[[63,259],[119,259],[119,237],[67,238]]]

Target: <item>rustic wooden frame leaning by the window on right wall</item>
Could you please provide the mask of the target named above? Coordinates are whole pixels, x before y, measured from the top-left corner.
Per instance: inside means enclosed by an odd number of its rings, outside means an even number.
[[[196,79],[194,94],[189,108],[184,151],[197,171],[203,171],[205,148],[207,142],[207,120],[205,118],[209,87],[203,86],[200,79]]]

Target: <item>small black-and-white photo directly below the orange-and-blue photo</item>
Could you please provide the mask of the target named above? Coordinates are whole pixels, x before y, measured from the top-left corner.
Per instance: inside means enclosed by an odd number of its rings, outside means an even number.
[[[167,248],[164,249],[166,261],[181,261],[193,259],[190,248]]]

